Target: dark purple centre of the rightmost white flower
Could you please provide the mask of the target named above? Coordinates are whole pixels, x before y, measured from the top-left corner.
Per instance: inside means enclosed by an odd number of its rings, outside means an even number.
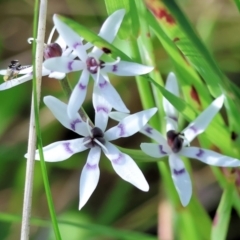
[[[183,146],[183,133],[177,133],[174,130],[167,132],[167,142],[174,153],[178,153]]]

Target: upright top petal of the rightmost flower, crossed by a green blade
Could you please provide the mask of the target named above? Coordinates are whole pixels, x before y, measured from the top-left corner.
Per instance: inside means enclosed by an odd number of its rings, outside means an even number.
[[[178,83],[177,83],[177,79],[176,79],[174,73],[171,72],[168,74],[165,88],[166,88],[166,90],[173,93],[174,95],[179,96]],[[167,116],[166,131],[167,132],[169,130],[177,131],[177,129],[178,129],[178,112],[166,98],[163,98],[163,109]]]

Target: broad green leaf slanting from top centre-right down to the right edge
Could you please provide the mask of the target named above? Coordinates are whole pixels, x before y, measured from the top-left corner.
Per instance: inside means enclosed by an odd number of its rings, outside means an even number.
[[[177,37],[178,41],[175,42],[177,47],[201,74],[213,96],[217,97],[221,92],[224,92],[227,97],[230,127],[232,130],[240,131],[237,116],[240,111],[239,98],[237,97],[240,90],[222,73],[175,1],[163,0],[163,2],[177,20],[177,24],[174,24],[171,30],[165,27],[165,32],[170,38],[176,39]]]

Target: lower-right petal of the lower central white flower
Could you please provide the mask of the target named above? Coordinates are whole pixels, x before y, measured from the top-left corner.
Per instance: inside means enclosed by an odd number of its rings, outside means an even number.
[[[111,161],[115,172],[125,181],[142,191],[148,191],[149,185],[137,164],[127,154],[120,152],[113,144],[106,142],[105,155]]]

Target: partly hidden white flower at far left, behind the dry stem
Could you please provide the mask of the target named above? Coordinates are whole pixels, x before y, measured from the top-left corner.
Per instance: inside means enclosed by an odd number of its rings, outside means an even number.
[[[54,34],[54,31],[55,31],[55,27],[52,29],[50,35],[49,35],[49,38],[48,38],[48,41],[47,41],[47,44],[45,44],[45,49],[44,49],[44,56],[46,58],[46,52],[49,53],[49,51],[51,52],[53,50],[53,48],[55,48],[55,51],[54,51],[54,54],[57,56],[69,56],[69,58],[72,58],[74,59],[75,58],[75,54],[72,53],[72,49],[69,49],[69,48],[66,48],[66,44],[64,43],[63,39],[61,38],[61,36],[58,37],[58,39],[54,42],[54,43],[51,43],[51,40],[52,40],[52,36]],[[32,41],[34,41],[33,38],[29,38],[28,39],[28,42],[31,43]],[[58,47],[56,49],[56,47]],[[58,53],[57,53],[58,51]],[[3,69],[3,70],[0,70],[0,75],[4,75],[6,76],[7,75],[7,69]],[[12,88],[12,87],[15,87],[21,83],[24,83],[26,81],[29,81],[33,78],[33,68],[32,66],[30,67],[27,67],[27,68],[24,68],[20,71],[16,71],[16,75],[23,75],[23,76],[20,76],[20,77],[16,77],[16,78],[13,78],[13,79],[10,79],[10,80],[7,80],[5,81],[4,83],[0,84],[0,91],[1,90],[6,90],[6,89],[9,89],[9,88]],[[42,68],[42,76],[47,76],[50,77],[50,78],[56,78],[56,79],[63,79],[66,74],[65,73],[62,73],[62,72],[56,72],[56,71],[50,71],[48,69],[46,69],[44,66]]]

